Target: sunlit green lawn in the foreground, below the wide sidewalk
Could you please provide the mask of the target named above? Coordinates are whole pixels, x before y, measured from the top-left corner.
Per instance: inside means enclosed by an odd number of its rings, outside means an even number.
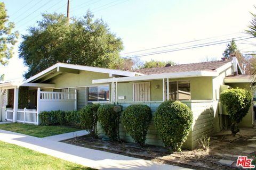
[[[92,169],[0,141],[0,169]]]

